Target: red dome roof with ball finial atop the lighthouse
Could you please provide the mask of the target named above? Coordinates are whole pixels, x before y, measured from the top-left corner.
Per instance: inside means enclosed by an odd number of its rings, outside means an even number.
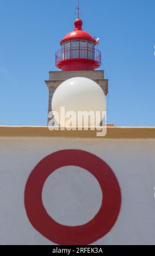
[[[60,41],[60,45],[63,44],[63,42],[69,41],[69,40],[89,40],[94,42],[96,45],[96,40],[92,38],[92,36],[88,33],[82,30],[83,22],[81,19],[75,20],[75,30],[71,31],[69,34],[67,34],[62,41]]]

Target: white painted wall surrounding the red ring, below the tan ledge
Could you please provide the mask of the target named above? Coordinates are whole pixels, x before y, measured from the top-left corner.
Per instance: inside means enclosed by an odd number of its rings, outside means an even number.
[[[52,245],[30,224],[24,208],[24,188],[29,174],[45,156],[62,149],[82,149],[103,159],[113,169],[121,187],[122,204],[114,227],[95,245],[154,245],[155,244],[155,139],[82,139],[1,137],[0,138],[0,244],[1,245]],[[76,167],[77,168],[77,167]],[[75,170],[74,170],[75,172]],[[78,174],[77,174],[78,173]],[[65,178],[66,177],[66,178]],[[67,178],[68,177],[68,178]],[[62,178],[62,179],[61,179]],[[80,180],[83,199],[78,197]],[[52,181],[53,179],[53,181]],[[36,181],[37,182],[37,181]],[[54,182],[54,185],[52,185]],[[68,183],[67,183],[68,182]],[[73,183],[71,183],[73,182]],[[77,192],[75,185],[77,182]],[[87,182],[87,183],[86,183]],[[100,208],[102,195],[97,181],[86,171],[80,170],[71,177],[70,168],[61,177],[61,170],[49,177],[42,199],[49,215],[61,224],[80,224],[89,221]],[[51,184],[51,186],[50,186]],[[92,186],[90,186],[92,185]],[[57,193],[57,188],[62,188]],[[94,193],[91,194],[91,189]],[[73,205],[72,218],[62,211],[63,191],[68,200],[65,211]],[[58,198],[53,196],[58,194]],[[95,207],[91,212],[92,203]],[[93,196],[94,195],[94,196]],[[75,196],[75,199],[74,199]],[[104,194],[103,194],[104,199]],[[50,206],[54,205],[54,211]],[[85,214],[82,210],[85,206]],[[57,215],[57,207],[59,214]],[[56,209],[56,210],[55,210]],[[69,212],[67,213],[69,214]],[[88,218],[88,220],[87,220]]]

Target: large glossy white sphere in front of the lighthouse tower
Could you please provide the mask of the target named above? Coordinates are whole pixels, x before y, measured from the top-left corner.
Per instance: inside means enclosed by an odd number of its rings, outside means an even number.
[[[52,99],[52,111],[56,121],[63,127],[66,126],[66,121],[69,120],[69,115],[66,113],[76,113],[76,127],[78,126],[79,112],[98,112],[100,111],[100,120],[102,121],[102,113],[106,112],[106,96],[100,86],[89,78],[73,77],[63,83],[55,90]],[[62,107],[65,112],[62,112]],[[59,118],[58,118],[59,117]],[[61,117],[61,118],[60,118]],[[73,118],[73,117],[72,117]],[[89,120],[89,126],[94,126],[94,122]]]

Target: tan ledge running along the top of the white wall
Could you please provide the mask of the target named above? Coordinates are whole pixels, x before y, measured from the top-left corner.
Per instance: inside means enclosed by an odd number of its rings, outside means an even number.
[[[105,137],[95,131],[50,131],[47,126],[0,126],[0,137],[70,137],[70,138],[155,138],[155,127],[107,127]]]

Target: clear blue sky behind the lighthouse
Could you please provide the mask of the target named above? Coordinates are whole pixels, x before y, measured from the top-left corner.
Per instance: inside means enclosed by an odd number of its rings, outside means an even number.
[[[80,2],[83,29],[100,37],[109,78],[108,123],[155,126],[155,1]],[[58,70],[55,51],[73,29],[76,5],[0,1],[0,125],[47,125],[44,81],[48,71]]]

